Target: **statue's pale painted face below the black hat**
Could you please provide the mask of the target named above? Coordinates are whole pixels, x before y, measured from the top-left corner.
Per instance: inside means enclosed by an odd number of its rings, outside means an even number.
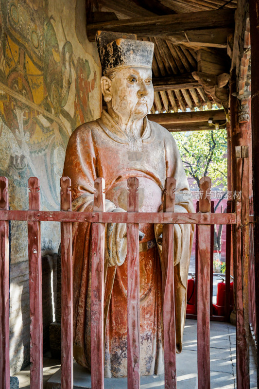
[[[123,122],[144,118],[149,113],[154,101],[151,69],[121,69],[116,71],[109,81],[108,94],[105,94],[107,88],[105,90],[102,84],[104,100],[108,108],[111,106]]]

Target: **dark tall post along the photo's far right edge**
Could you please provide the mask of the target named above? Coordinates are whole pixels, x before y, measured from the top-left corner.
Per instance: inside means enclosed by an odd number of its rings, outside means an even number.
[[[252,119],[252,163],[254,198],[254,253],[255,280],[259,280],[259,20],[258,0],[249,0],[250,36],[251,36],[251,119]],[[259,287],[255,291],[256,333],[259,344]],[[257,347],[257,386],[259,387],[259,347]]]

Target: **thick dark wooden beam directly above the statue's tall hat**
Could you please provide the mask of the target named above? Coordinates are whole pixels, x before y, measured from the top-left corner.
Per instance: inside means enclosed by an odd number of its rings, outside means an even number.
[[[221,9],[193,12],[189,14],[114,20],[88,24],[86,29],[89,41],[93,42],[95,40],[96,31],[98,30],[133,33],[137,34],[138,37],[164,37],[192,30],[231,27],[234,28],[234,10]]]

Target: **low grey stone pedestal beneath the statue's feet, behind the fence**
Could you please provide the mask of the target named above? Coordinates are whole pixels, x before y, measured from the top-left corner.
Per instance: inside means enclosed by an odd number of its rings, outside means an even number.
[[[164,388],[163,375],[146,375],[140,378],[141,388]],[[104,378],[105,389],[127,389],[127,378]],[[60,389],[60,369],[47,382],[47,389]],[[73,389],[91,389],[91,374],[74,361]]]

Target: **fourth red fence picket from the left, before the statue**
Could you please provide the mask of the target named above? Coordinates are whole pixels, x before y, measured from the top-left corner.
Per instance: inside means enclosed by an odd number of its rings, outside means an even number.
[[[94,206],[105,211],[105,181],[94,181]],[[91,380],[92,389],[104,389],[104,238],[105,225],[92,224],[92,278],[91,278]]]

